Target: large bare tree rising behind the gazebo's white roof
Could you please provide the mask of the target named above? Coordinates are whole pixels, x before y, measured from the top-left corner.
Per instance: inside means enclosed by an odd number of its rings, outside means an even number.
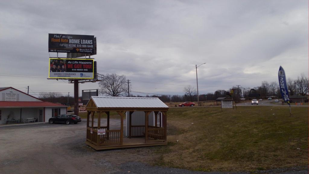
[[[104,80],[99,82],[100,93],[107,94],[109,96],[118,97],[125,96],[128,92],[128,86],[125,83],[125,75],[106,74]]]

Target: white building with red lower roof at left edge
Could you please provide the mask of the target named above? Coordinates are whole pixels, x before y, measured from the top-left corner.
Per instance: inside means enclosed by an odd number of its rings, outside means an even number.
[[[48,122],[66,111],[64,105],[44,102],[12,87],[0,88],[0,124]]]

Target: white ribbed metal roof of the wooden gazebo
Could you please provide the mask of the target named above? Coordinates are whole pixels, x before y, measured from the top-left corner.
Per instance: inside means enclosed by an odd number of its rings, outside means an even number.
[[[159,98],[148,97],[91,97],[98,108],[168,108]]]

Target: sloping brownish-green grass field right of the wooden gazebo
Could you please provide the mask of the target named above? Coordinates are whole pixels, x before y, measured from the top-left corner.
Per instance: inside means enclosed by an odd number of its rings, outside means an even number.
[[[308,164],[308,108],[170,108],[168,146],[155,165],[197,171],[249,171]],[[176,142],[179,140],[179,142]]]

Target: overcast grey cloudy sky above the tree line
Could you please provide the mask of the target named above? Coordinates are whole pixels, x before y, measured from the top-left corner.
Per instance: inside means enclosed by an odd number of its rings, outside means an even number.
[[[1,0],[0,87],[73,95],[67,80],[47,80],[48,33],[95,35],[98,72],[144,93],[196,88],[202,63],[199,94],[277,82],[280,65],[292,79],[308,76],[308,1]]]

